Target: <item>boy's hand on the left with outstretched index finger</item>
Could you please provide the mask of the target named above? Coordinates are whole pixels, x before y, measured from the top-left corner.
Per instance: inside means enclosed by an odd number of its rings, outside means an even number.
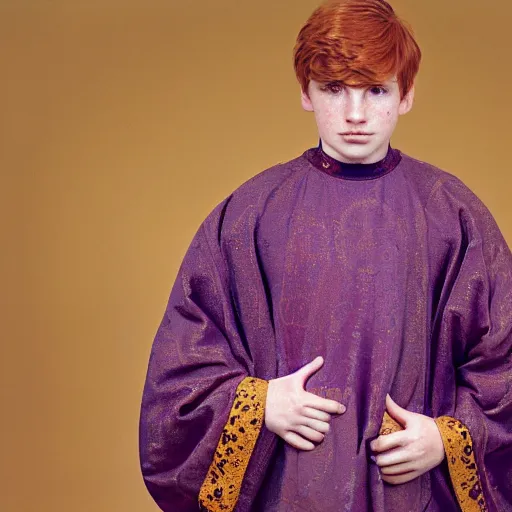
[[[313,450],[329,431],[331,414],[346,410],[335,400],[304,390],[307,380],[324,364],[317,357],[295,373],[268,383],[265,426],[298,450]]]

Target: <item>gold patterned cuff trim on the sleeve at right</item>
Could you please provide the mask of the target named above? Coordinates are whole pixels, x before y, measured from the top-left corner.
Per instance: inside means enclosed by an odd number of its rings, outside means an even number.
[[[469,429],[450,416],[435,419],[443,438],[452,485],[462,512],[488,512]]]

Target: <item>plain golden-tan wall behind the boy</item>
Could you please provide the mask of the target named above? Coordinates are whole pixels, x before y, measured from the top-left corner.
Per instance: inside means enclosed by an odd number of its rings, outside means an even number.
[[[156,510],[137,422],[201,220],[317,142],[291,67],[316,0],[0,1],[3,512]],[[394,145],[512,242],[509,0],[396,0],[424,52]]]

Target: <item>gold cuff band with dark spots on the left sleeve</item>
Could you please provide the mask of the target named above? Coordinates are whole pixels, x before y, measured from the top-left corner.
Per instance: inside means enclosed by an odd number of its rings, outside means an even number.
[[[199,491],[202,511],[231,512],[235,508],[263,425],[267,388],[267,381],[253,377],[238,385],[229,420]]]

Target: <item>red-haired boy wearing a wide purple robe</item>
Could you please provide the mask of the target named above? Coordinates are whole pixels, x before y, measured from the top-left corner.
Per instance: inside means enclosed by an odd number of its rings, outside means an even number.
[[[154,341],[162,510],[512,511],[512,255],[457,178],[389,145],[419,62],[384,0],[301,30],[320,145],[208,216]]]

